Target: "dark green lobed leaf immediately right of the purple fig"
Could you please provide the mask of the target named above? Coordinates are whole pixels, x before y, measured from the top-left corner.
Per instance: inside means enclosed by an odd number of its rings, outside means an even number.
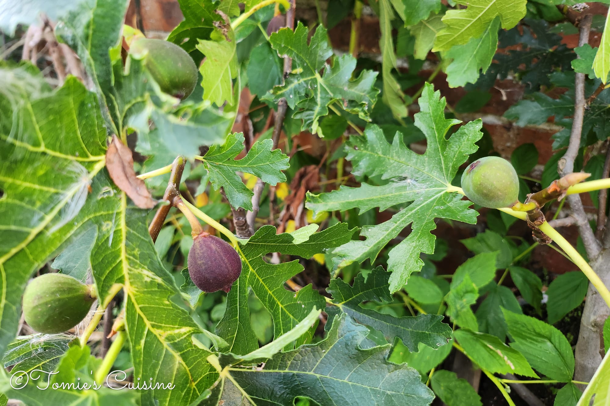
[[[313,230],[310,230],[313,232]],[[235,354],[248,354],[258,348],[256,335],[250,325],[248,290],[251,288],[273,318],[274,337],[289,332],[312,308],[323,308],[324,298],[311,285],[295,292],[284,287],[284,282],[303,270],[298,261],[272,265],[265,262],[264,255],[280,252],[311,258],[314,254],[349,241],[354,230],[346,223],[338,223],[318,233],[310,234],[307,240],[295,243],[290,233],[276,234],[273,226],[263,226],[248,242],[240,247],[242,274],[231,287],[227,296],[227,307],[223,319],[218,323],[217,334],[229,343]],[[313,335],[309,330],[296,345],[308,342]],[[289,347],[293,347],[292,344]]]

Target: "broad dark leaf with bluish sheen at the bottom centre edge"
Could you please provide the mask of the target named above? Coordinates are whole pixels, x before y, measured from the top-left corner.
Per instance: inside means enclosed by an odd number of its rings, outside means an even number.
[[[359,348],[367,333],[350,316],[336,316],[320,343],[276,354],[260,368],[223,366],[204,404],[289,405],[301,395],[320,406],[429,405],[420,374],[386,360],[390,344]]]

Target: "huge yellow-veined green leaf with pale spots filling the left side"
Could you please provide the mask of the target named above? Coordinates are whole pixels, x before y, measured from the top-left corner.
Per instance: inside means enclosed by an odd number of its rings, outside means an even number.
[[[2,74],[14,80],[9,91],[0,90],[0,351],[15,338],[32,273],[95,230],[93,279],[102,302],[123,287],[134,379],[176,384],[174,390],[141,391],[140,401],[195,401],[217,372],[205,361],[209,350],[193,341],[201,329],[159,260],[147,212],[105,169],[107,133],[96,94],[74,77],[50,91],[23,68],[0,68]]]

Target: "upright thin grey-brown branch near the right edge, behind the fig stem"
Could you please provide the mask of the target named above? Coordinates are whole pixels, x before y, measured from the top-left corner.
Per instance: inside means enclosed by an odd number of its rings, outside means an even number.
[[[589,42],[589,32],[591,29],[592,16],[587,14],[580,22],[580,37],[578,38],[578,46],[583,46]],[[565,155],[559,160],[559,172],[565,176],[574,171],[574,160],[580,149],[580,141],[583,132],[584,107],[586,100],[584,98],[584,73],[575,74],[575,95],[574,95],[574,118],[572,121],[572,132],[570,132],[570,142]],[[601,244],[595,238],[593,230],[589,226],[587,216],[584,213],[583,202],[580,196],[572,194],[566,198],[567,202],[572,207],[572,215],[576,218],[578,231],[583,238],[584,247],[589,258],[595,258],[601,251]]]

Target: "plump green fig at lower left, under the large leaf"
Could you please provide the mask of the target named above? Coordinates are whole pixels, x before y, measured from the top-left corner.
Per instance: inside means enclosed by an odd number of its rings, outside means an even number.
[[[95,301],[93,287],[64,274],[32,279],[23,293],[23,315],[40,333],[63,333],[87,316]]]

